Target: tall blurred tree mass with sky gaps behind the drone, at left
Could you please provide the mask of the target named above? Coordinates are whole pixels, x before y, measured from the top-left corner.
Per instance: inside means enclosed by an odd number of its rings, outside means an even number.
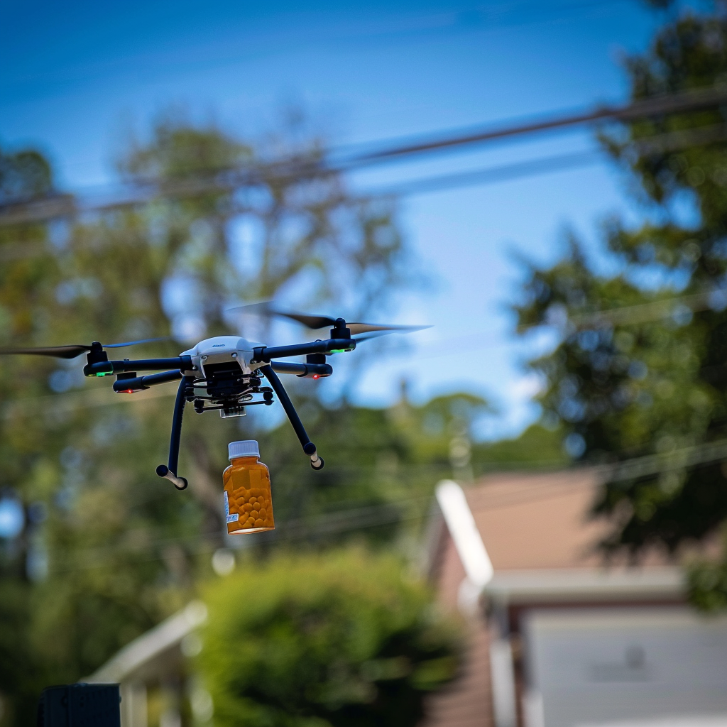
[[[318,158],[321,140],[306,139],[295,153]],[[0,228],[0,345],[199,340],[234,329],[225,308],[289,291],[375,314],[411,281],[393,204],[352,195],[338,174],[277,174],[266,153],[165,118],[119,164],[124,179],[157,190],[147,204]],[[37,154],[0,161],[2,201],[52,192]],[[179,350],[159,342],[134,354]],[[126,399],[84,380],[82,363],[0,359],[0,489],[28,515],[2,551],[7,724],[29,723],[42,686],[89,674],[189,597],[209,567],[203,556],[222,542],[225,444],[254,434],[246,422],[241,432],[234,420],[188,415],[180,471],[192,485],[174,491],[154,474],[174,385]],[[310,469],[300,454],[286,466]]]

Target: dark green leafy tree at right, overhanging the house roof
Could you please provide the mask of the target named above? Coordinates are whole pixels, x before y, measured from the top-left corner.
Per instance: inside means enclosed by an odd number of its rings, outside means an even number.
[[[722,5],[669,20],[627,71],[633,100],[722,87]],[[594,513],[613,525],[603,543],[608,551],[637,555],[656,545],[675,553],[727,518],[720,462],[668,460],[727,434],[724,121],[720,107],[604,129],[648,221],[632,227],[609,220],[606,249],[590,258],[571,238],[553,268],[531,267],[517,306],[521,330],[549,325],[561,334],[553,353],[531,367],[544,382],[543,416],[549,425],[560,422],[574,459],[665,458],[658,474],[601,489]]]

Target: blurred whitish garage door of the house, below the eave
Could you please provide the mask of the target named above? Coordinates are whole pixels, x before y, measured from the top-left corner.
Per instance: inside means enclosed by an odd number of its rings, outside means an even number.
[[[674,718],[727,727],[726,618],[686,607],[541,609],[523,636],[527,727]]]

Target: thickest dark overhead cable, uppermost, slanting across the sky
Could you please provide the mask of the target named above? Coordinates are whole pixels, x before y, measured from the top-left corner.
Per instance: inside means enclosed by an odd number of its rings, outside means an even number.
[[[145,204],[159,197],[190,198],[204,193],[220,193],[246,185],[260,185],[270,179],[295,180],[339,174],[374,164],[417,157],[425,153],[474,148],[489,142],[523,137],[554,129],[573,128],[598,121],[634,121],[648,116],[663,116],[667,113],[700,111],[720,107],[720,105],[726,103],[727,89],[723,87],[699,89],[697,91],[651,97],[627,105],[606,105],[582,113],[550,116],[539,121],[495,126],[494,128],[488,126],[468,130],[459,129],[455,132],[443,132],[419,140],[382,143],[378,149],[374,148],[374,150],[361,153],[332,150],[327,157],[324,156],[313,160],[308,157],[292,156],[255,166],[244,166],[236,169],[225,169],[217,173],[209,172],[209,174],[185,177],[183,180],[164,180],[162,182],[142,180],[136,185],[129,185],[129,187],[115,195],[107,196],[108,198],[102,201],[84,201],[82,198],[76,198],[71,194],[57,193],[30,201],[0,204],[0,225],[40,222],[55,217],[73,216],[79,214],[79,212],[103,212],[104,210],[123,209]],[[712,129],[713,132],[714,127],[708,128]],[[699,129],[695,129],[694,132],[699,132]],[[661,137],[662,134],[659,134],[659,136]],[[721,138],[723,138],[723,133],[720,136]],[[648,140],[638,140],[635,144],[643,144],[646,141]],[[337,156],[340,158],[337,158]],[[548,163],[556,164],[553,159]],[[574,161],[571,159],[570,163],[574,164]],[[539,161],[536,164],[545,164],[545,161]],[[567,164],[567,162],[562,159],[560,164]],[[486,170],[483,170],[482,173],[486,174]],[[499,173],[506,174],[502,169],[499,169]],[[515,170],[507,172],[510,176],[514,173]],[[433,183],[431,180],[422,182],[422,184]],[[449,183],[451,183],[451,180]]]

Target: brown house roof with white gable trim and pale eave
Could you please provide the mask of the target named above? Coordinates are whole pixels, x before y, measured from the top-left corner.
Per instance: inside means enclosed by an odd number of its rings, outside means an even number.
[[[624,558],[604,562],[597,545],[608,523],[589,518],[601,476],[581,469],[489,475],[465,488],[440,483],[438,504],[467,575],[460,608],[483,590],[511,603],[678,596],[680,570],[663,552],[647,553],[638,568]]]

